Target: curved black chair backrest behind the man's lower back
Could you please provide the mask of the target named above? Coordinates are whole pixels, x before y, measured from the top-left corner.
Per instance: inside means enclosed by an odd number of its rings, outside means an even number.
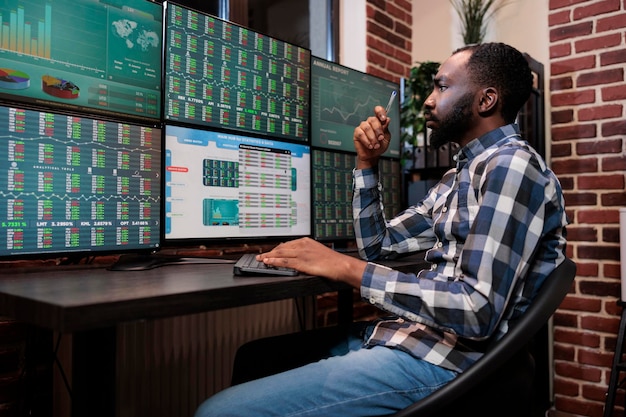
[[[428,397],[393,414],[393,417],[441,417],[439,411],[511,359],[550,319],[572,287],[576,264],[566,258],[546,278],[526,312],[497,343],[491,344],[485,355],[450,383]],[[488,404],[485,404],[488,407]],[[489,415],[489,414],[483,414]]]

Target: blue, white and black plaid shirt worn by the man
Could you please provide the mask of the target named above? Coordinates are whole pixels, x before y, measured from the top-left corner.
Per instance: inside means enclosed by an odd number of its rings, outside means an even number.
[[[368,262],[361,296],[395,316],[366,345],[462,372],[508,329],[564,258],[562,190],[517,125],[473,140],[416,206],[387,222],[375,170],[354,171],[354,223],[368,261],[426,250],[430,270]]]

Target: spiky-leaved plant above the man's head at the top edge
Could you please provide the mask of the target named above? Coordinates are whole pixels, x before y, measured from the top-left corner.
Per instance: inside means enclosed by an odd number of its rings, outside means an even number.
[[[449,0],[461,19],[463,42],[466,45],[480,43],[485,39],[487,24],[491,16],[506,0]]]

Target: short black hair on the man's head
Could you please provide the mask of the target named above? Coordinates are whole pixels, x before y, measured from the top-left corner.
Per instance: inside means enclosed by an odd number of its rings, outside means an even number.
[[[472,82],[495,87],[502,100],[502,117],[513,123],[533,88],[533,75],[524,55],[502,42],[466,45],[453,55],[461,51],[472,54],[467,63]]]

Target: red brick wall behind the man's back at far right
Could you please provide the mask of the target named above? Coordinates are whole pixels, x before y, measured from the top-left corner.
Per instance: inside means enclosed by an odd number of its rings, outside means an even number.
[[[578,264],[573,291],[554,321],[554,408],[596,417],[603,413],[621,312],[626,2],[550,0],[549,10],[552,167],[571,220],[568,255]]]

